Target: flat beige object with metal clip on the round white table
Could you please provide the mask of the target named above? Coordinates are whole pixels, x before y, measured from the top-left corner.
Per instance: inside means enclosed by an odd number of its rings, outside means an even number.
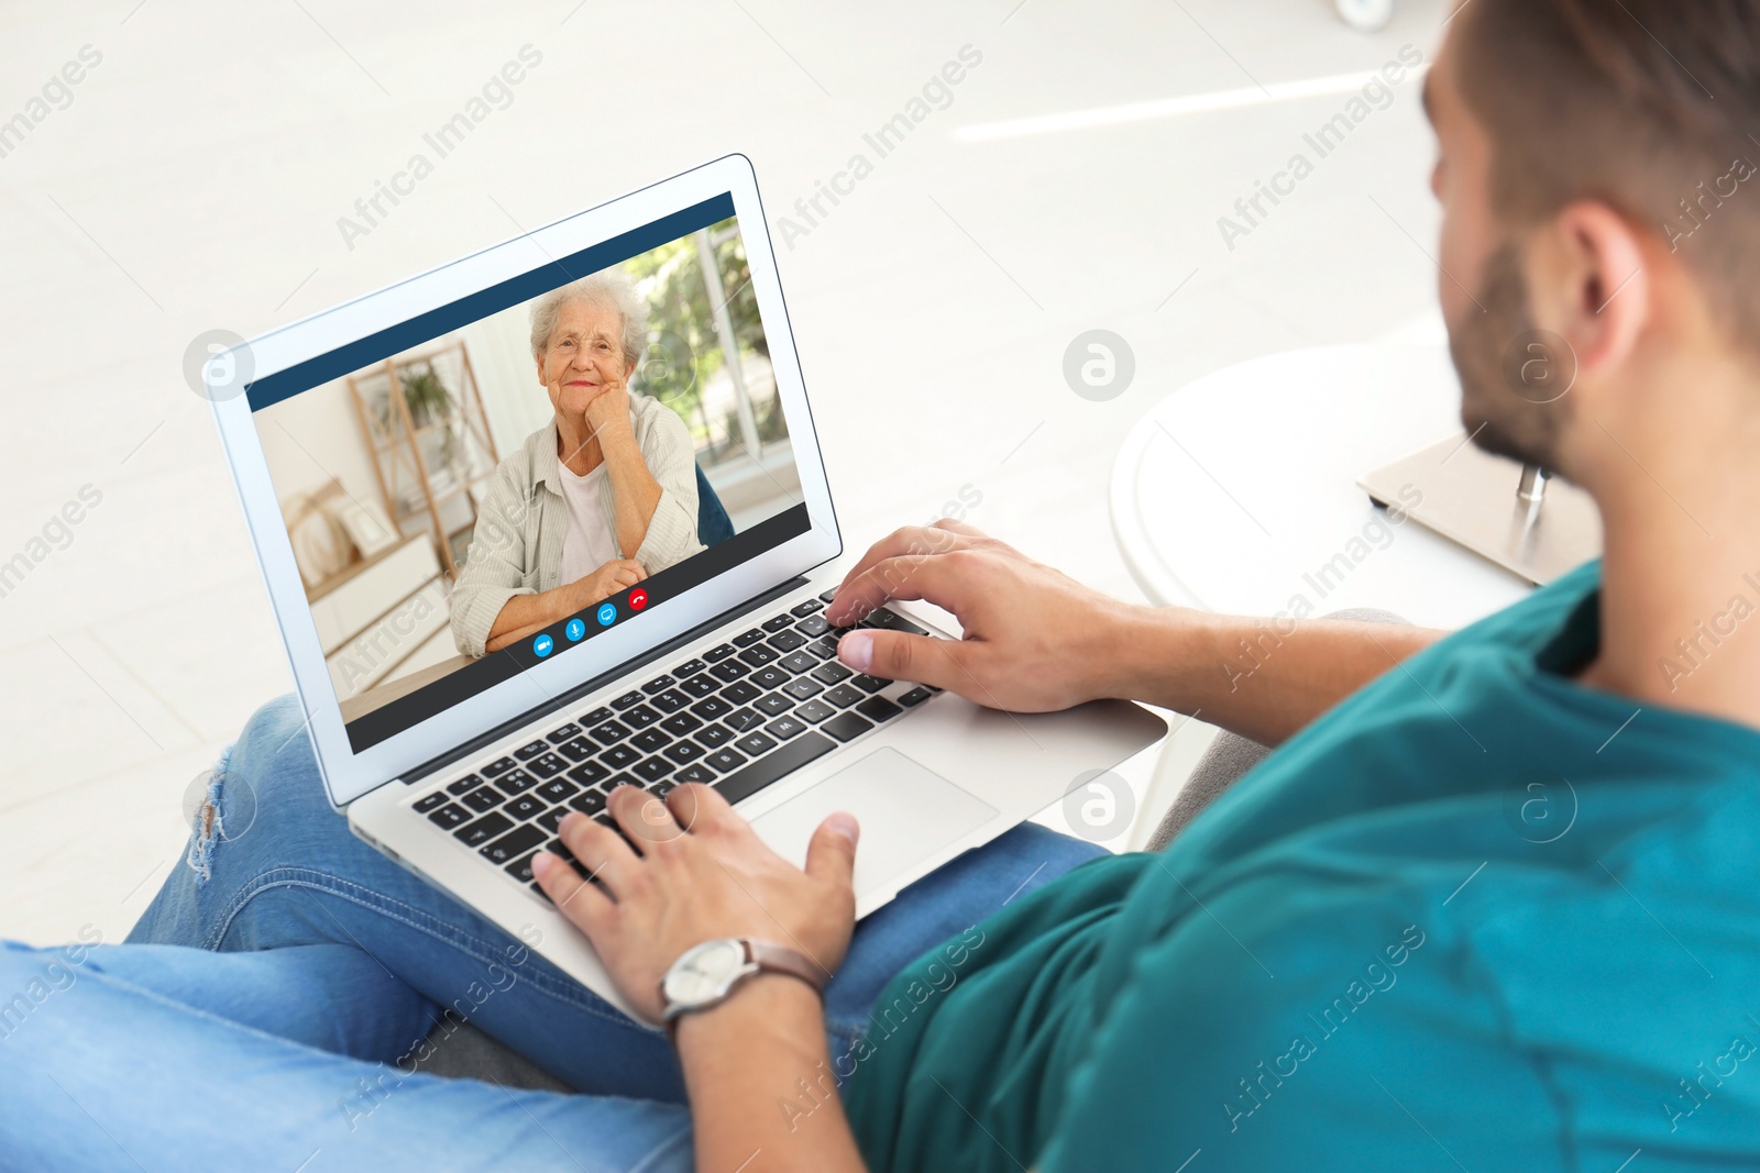
[[[1602,514],[1577,485],[1468,443],[1466,433],[1368,473],[1382,506],[1482,554],[1536,586],[1602,554]],[[1422,498],[1404,506],[1417,489]]]

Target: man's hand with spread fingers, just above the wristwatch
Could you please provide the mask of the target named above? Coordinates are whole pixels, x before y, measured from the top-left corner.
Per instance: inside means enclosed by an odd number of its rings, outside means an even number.
[[[549,853],[532,874],[642,1018],[660,1022],[660,978],[672,962],[716,937],[776,941],[810,957],[827,981],[836,973],[855,929],[852,816],[820,825],[801,871],[711,786],[679,786],[665,802],[620,786],[607,809],[628,841],[584,814],[558,827],[597,883]]]

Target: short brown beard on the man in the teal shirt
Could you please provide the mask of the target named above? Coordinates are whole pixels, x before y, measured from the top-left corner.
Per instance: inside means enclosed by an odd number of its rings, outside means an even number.
[[[1554,364],[1554,378],[1575,378],[1577,361],[1565,339],[1533,341],[1538,332],[1528,310],[1528,281],[1521,253],[1505,243],[1485,260],[1478,304],[1448,329],[1448,353],[1461,376],[1461,422],[1473,445],[1496,455],[1554,470],[1558,436],[1568,408],[1551,389],[1526,383],[1521,371],[1536,364],[1526,353]],[[1563,348],[1565,353],[1554,353]],[[1526,364],[1526,366],[1524,366]],[[1558,396],[1563,397],[1568,390]]]

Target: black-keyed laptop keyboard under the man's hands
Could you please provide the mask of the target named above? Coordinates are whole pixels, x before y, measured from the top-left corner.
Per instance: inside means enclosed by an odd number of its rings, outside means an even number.
[[[771,616],[412,805],[542,895],[532,856],[547,849],[572,862],[556,837],[570,811],[616,828],[605,800],[618,786],[664,798],[685,783],[708,783],[729,802],[748,798],[940,691],[838,663],[848,628],[820,614],[834,594]],[[928,635],[885,608],[857,626]]]

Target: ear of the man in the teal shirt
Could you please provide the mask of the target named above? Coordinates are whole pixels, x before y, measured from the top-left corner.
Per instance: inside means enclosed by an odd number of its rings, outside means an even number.
[[[1623,364],[1654,315],[1642,232],[1607,204],[1577,200],[1535,232],[1528,257],[1535,325],[1570,343],[1579,373]]]

